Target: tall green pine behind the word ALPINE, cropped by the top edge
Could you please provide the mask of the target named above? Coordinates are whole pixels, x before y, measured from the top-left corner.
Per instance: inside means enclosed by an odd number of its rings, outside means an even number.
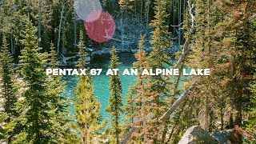
[[[165,25],[165,19],[168,16],[166,14],[166,2],[158,0],[154,2],[154,4],[155,19],[150,23],[150,26],[154,27],[154,31],[152,32],[153,35],[151,36],[152,40],[150,41],[153,51],[151,51],[148,56],[149,67],[153,70],[166,68],[166,66],[172,65],[169,54],[172,43],[170,42],[168,26]],[[166,94],[168,91],[166,89],[170,83],[166,79],[167,78],[162,76],[152,76],[150,81],[155,82],[152,89],[156,90],[160,94]],[[157,99],[158,98],[156,98],[156,100]],[[157,104],[160,105],[160,103]]]

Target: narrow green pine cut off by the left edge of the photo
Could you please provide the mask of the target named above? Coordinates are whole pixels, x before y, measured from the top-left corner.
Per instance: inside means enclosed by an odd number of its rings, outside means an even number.
[[[8,143],[11,142],[15,134],[15,131],[12,130],[11,121],[18,116],[15,110],[15,103],[18,98],[13,82],[13,61],[14,59],[8,50],[6,37],[3,37],[3,46],[0,53],[0,98],[2,99],[0,138],[5,138]]]

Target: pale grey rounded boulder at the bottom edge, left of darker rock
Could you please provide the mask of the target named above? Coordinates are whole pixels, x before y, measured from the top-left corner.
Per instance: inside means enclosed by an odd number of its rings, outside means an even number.
[[[218,144],[218,142],[200,126],[191,126],[178,144]]]

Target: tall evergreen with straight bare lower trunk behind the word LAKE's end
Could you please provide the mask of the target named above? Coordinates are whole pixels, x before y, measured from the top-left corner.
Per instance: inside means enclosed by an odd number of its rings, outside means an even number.
[[[212,30],[214,25],[212,16],[215,12],[214,9],[216,9],[216,7],[212,6],[213,3],[214,0],[196,1],[196,12],[198,13],[198,23],[196,27],[198,31],[194,36],[195,46],[193,47],[193,50],[195,54],[194,59],[192,60],[193,63],[191,64],[191,67],[193,68],[206,67],[212,70],[214,69],[213,62],[218,59],[216,58],[217,54],[214,53],[216,48],[212,46],[214,34]],[[215,73],[215,75],[214,73],[215,71],[213,70],[210,76],[194,78],[198,80],[198,84],[202,85],[201,89],[204,90],[204,92],[200,94],[203,103],[203,108],[201,108],[202,110],[200,111],[202,117],[198,119],[205,130],[210,130],[210,102],[214,98],[214,90],[212,87],[217,84],[217,82],[213,82],[213,77],[217,77],[217,74]]]

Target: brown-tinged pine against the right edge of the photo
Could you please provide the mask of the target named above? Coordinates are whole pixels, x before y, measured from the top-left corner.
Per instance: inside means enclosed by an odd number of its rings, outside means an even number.
[[[230,96],[230,127],[242,125],[242,109],[246,104],[245,100],[249,97],[250,92],[246,89],[249,87],[251,79],[248,78],[254,74],[255,62],[255,34],[254,24],[250,21],[250,16],[254,14],[255,1],[230,1],[229,3],[220,1],[220,10],[230,18],[223,18],[218,30],[222,40],[226,42],[225,48],[228,52],[224,53],[230,62],[229,81],[226,83],[227,91]],[[235,24],[234,24],[235,23]]]

